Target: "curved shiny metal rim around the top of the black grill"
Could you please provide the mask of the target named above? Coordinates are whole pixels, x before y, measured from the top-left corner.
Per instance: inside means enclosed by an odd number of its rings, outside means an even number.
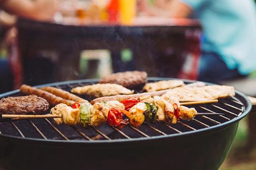
[[[176,79],[176,78],[163,78],[163,77],[148,77],[148,80],[152,80],[152,81],[160,81],[160,80],[170,80],[170,79]],[[47,84],[43,84],[43,85],[36,85],[34,87],[36,88],[41,88],[44,86],[55,86],[55,85],[67,85],[67,84],[75,84],[75,83],[90,83],[90,82],[98,82],[99,79],[80,79],[80,80],[70,80],[70,81],[63,81],[63,82],[54,82],[54,83],[47,83]],[[197,82],[194,80],[187,80],[187,79],[180,79],[183,80],[186,83],[193,83],[193,82]],[[209,82],[204,82],[207,85],[215,85],[213,83],[209,83]],[[3,97],[8,97],[12,94],[15,93],[19,93],[20,90],[14,90],[14,91],[9,91],[6,92],[4,94],[0,94],[0,98]],[[39,142],[40,144],[117,144],[117,143],[131,143],[131,142],[142,142],[142,141],[147,141],[147,142],[152,142],[155,140],[166,140],[166,139],[172,139],[172,140],[177,140],[179,138],[182,138],[183,136],[195,136],[195,134],[198,135],[204,135],[204,134],[209,134],[209,133],[213,133],[213,132],[217,132],[219,130],[225,129],[227,127],[230,127],[232,125],[234,125],[235,123],[239,122],[241,119],[243,119],[245,116],[247,116],[251,109],[252,109],[252,104],[250,102],[250,100],[247,98],[247,96],[243,93],[241,93],[240,91],[235,90],[236,94],[238,94],[239,96],[241,96],[242,99],[244,99],[244,107],[245,110],[243,111],[243,113],[241,113],[240,116],[237,116],[227,122],[218,124],[218,125],[213,125],[210,127],[204,127],[202,129],[197,129],[197,130],[192,130],[192,131],[187,131],[187,132],[182,132],[182,133],[174,133],[174,134],[168,134],[166,136],[160,135],[160,136],[150,136],[150,137],[139,137],[139,138],[131,138],[131,139],[111,139],[111,140],[55,140],[55,139],[38,139],[38,138],[28,138],[28,137],[20,137],[20,136],[12,136],[12,135],[6,135],[6,134],[0,134],[0,139],[3,140],[8,140],[8,141],[16,141],[16,142],[31,142],[31,143],[35,143],[35,142]]]

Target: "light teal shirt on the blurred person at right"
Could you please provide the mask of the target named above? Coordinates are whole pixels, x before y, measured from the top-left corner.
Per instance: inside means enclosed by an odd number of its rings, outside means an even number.
[[[203,51],[221,56],[240,74],[256,70],[256,8],[253,0],[180,0],[204,30]]]

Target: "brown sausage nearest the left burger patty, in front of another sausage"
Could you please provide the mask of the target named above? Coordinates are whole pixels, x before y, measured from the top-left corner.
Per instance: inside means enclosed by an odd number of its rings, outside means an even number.
[[[43,91],[37,88],[33,88],[29,85],[21,85],[20,86],[20,92],[26,95],[29,94],[35,94],[36,96],[40,96],[44,99],[47,100],[47,102],[49,102],[50,105],[55,106],[58,105],[60,103],[64,103],[68,106],[73,106],[74,105],[74,101],[72,100],[66,100],[66,99],[62,99],[61,97],[55,96],[54,94],[51,94],[47,91]]]

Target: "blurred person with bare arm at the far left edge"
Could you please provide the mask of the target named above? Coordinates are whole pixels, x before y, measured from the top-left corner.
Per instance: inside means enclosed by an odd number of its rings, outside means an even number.
[[[17,62],[17,30],[15,26],[16,17],[26,17],[32,20],[53,21],[54,14],[58,10],[59,0],[0,0],[0,32],[1,41],[5,41],[9,51],[9,58],[0,58],[0,93],[12,90],[13,71],[19,71],[16,65]],[[6,13],[14,14],[13,16]],[[15,55],[16,54],[16,55]],[[10,60],[12,62],[10,62]],[[10,67],[12,65],[12,67]],[[12,68],[12,69],[11,69]],[[21,73],[15,73],[21,74]],[[17,88],[17,87],[15,87]]]

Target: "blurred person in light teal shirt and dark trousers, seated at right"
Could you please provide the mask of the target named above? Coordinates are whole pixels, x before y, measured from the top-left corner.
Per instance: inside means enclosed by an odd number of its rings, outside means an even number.
[[[253,0],[160,0],[165,1],[161,12],[145,1],[139,0],[140,8],[150,15],[200,20],[204,35],[198,80],[218,83],[256,70]]]

